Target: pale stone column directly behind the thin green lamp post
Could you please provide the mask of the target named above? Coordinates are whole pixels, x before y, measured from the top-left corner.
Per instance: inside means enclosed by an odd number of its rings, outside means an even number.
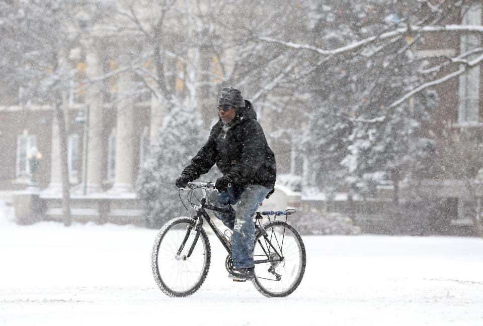
[[[99,58],[99,49],[94,44],[96,40],[86,44],[86,65],[87,78],[99,77],[103,74],[102,62]],[[87,193],[101,192],[102,183],[102,116],[103,116],[103,98],[102,98],[102,81],[93,82],[88,85],[86,95],[86,105],[89,111],[88,119],[88,146],[87,146],[87,169],[85,172],[86,179],[83,184],[78,187],[78,191]],[[87,184],[86,184],[87,183]]]

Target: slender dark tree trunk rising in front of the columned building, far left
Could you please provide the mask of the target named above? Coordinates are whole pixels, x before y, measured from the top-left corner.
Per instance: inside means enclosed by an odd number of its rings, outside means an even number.
[[[65,226],[70,226],[72,223],[72,216],[70,211],[70,180],[69,180],[69,166],[67,157],[67,127],[65,123],[65,113],[63,110],[63,103],[57,102],[55,105],[55,118],[59,124],[59,138],[60,138],[60,165],[62,175],[62,212]]]

